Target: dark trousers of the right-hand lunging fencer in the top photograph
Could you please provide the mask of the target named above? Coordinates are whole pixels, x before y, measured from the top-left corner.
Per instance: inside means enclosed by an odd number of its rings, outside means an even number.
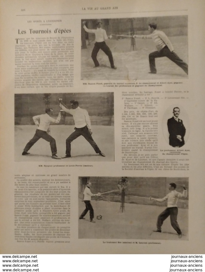
[[[156,73],[155,58],[167,57],[174,63],[176,63],[184,72],[188,75],[188,65],[181,60],[178,55],[174,52],[171,52],[167,46],[162,48],[162,50],[155,51],[149,54],[149,67],[150,71]]]

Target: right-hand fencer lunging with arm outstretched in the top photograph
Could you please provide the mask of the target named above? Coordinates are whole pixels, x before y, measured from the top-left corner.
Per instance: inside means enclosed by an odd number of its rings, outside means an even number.
[[[166,34],[163,31],[156,29],[157,25],[155,23],[150,23],[148,30],[150,35],[133,35],[133,38],[142,38],[142,39],[152,39],[156,45],[157,51],[149,54],[149,66],[151,74],[156,74],[155,58],[167,57],[174,63],[176,63],[184,72],[188,75],[188,65],[181,60],[178,55],[175,53],[172,43],[167,38]]]

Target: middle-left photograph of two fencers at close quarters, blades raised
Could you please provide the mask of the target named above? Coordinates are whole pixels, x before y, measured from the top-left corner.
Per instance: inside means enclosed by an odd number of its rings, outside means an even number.
[[[114,161],[114,93],[15,94],[15,161]]]

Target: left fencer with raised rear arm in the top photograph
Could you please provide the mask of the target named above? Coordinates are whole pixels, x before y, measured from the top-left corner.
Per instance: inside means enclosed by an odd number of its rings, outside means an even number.
[[[112,69],[117,69],[116,66],[114,66],[114,61],[113,61],[113,55],[112,52],[110,50],[110,48],[107,46],[107,44],[105,43],[105,41],[107,39],[111,39],[112,35],[110,35],[109,37],[107,37],[107,33],[105,31],[105,29],[102,29],[102,22],[98,21],[97,23],[97,29],[88,29],[85,26],[85,21],[83,22],[83,28],[85,29],[86,32],[88,33],[94,33],[95,34],[95,45],[94,48],[92,50],[92,60],[94,61],[95,66],[94,67],[98,67],[100,66],[98,60],[97,60],[97,54],[99,52],[99,50],[101,49],[109,58],[110,61],[110,65]]]

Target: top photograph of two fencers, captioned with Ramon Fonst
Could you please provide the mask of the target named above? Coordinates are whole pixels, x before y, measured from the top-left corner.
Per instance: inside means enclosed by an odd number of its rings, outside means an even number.
[[[81,20],[81,79],[188,78],[188,16]]]

